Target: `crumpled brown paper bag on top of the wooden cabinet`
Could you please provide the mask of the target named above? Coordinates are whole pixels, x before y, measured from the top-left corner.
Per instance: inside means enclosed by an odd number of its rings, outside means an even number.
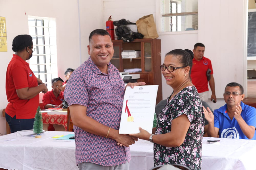
[[[143,34],[143,38],[157,38],[157,27],[154,21],[153,14],[143,16],[136,21],[138,32]]]

